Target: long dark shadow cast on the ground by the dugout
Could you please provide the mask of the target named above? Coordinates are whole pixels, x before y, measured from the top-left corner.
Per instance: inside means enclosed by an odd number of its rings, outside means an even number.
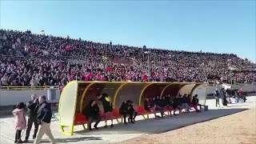
[[[199,122],[206,122],[214,118],[220,118],[226,115],[235,114],[248,109],[218,109],[207,110],[201,113],[191,112],[190,114],[179,114],[178,116],[166,116],[163,119],[146,119],[124,125],[122,123],[114,125],[113,128],[100,127],[99,130],[81,130],[75,131],[75,134],[92,135],[92,134],[159,134],[162,132],[176,130],[184,126],[190,126]]]

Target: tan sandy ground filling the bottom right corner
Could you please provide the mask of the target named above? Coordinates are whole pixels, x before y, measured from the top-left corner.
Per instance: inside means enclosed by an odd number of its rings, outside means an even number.
[[[122,142],[125,143],[256,144],[256,109],[253,106],[250,110],[162,134],[143,134]]]

